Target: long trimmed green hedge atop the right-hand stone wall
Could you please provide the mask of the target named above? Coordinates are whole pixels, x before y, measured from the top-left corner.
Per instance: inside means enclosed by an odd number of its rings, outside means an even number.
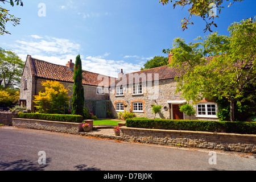
[[[237,134],[256,134],[256,122],[126,119],[127,127],[164,130],[208,131]]]

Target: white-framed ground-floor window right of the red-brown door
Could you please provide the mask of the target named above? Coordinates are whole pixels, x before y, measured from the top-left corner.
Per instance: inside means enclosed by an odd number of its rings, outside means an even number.
[[[200,105],[200,107],[199,107]],[[208,106],[210,105],[210,107]],[[215,115],[213,114],[208,114],[208,113],[213,113],[213,107],[212,105],[214,105],[214,109],[215,109]],[[204,107],[201,107],[204,106]],[[214,102],[204,102],[204,103],[198,103],[196,104],[196,117],[203,117],[203,118],[218,118],[217,117],[217,104]],[[203,114],[203,111],[205,112],[205,114]],[[201,112],[201,113],[200,113]]]

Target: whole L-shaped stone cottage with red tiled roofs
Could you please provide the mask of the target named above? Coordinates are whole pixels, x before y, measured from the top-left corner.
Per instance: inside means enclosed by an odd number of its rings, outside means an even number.
[[[64,66],[28,55],[20,81],[20,103],[34,111],[34,95],[43,89],[41,82],[46,80],[60,81],[65,88],[71,86],[69,94],[72,94],[73,67],[72,60]],[[97,114],[97,110],[103,109],[104,112],[110,110],[115,117],[118,112],[127,110],[135,113],[136,117],[188,119],[188,115],[179,111],[179,105],[187,101],[180,93],[175,94],[174,78],[178,74],[175,68],[167,65],[127,74],[121,69],[118,78],[83,71],[85,106],[89,110],[93,108],[93,113],[99,118],[106,116]],[[106,108],[100,101],[110,106]],[[161,105],[160,113],[153,114],[152,105]],[[212,100],[200,101],[195,109],[196,115],[191,119],[217,119],[217,104]]]

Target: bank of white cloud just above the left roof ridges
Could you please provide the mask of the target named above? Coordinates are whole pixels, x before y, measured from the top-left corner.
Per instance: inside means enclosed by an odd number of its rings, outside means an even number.
[[[40,39],[39,39],[40,38]],[[53,38],[49,36],[31,35],[28,40],[16,40],[13,47],[23,61],[26,61],[27,55],[49,63],[65,65],[70,59],[76,60],[79,54],[80,44],[68,39]],[[137,63],[128,63],[124,60],[107,59],[109,52],[103,55],[82,55],[82,69],[90,72],[100,73],[102,75],[118,77],[118,73],[123,69],[124,73],[139,71],[143,65],[142,61]]]

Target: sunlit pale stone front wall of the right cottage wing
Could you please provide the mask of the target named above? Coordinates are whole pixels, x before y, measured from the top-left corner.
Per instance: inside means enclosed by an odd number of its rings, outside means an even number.
[[[112,102],[112,113],[115,117],[118,117],[118,112],[115,111],[115,103],[123,102],[127,105],[125,110],[133,111],[133,102],[143,102],[143,112],[134,112],[136,117],[146,117],[146,118],[162,118],[162,119],[173,119],[172,118],[172,104],[168,104],[167,101],[181,101],[184,100],[181,97],[181,93],[176,93],[177,82],[174,79],[168,80],[159,80],[158,85],[155,86],[154,82],[152,86],[148,86],[147,84],[143,86],[143,94],[141,95],[133,95],[132,94],[132,85],[127,86],[124,91],[124,96],[115,96],[115,88],[110,88],[110,101]],[[201,102],[208,102],[207,100],[203,100]],[[192,102],[190,102],[192,104]],[[160,113],[153,114],[151,105],[161,105],[162,109]],[[170,107],[171,106],[171,107]],[[164,109],[167,107],[167,110]],[[196,105],[194,105],[196,110]],[[196,115],[184,114],[184,119],[201,119],[201,120],[218,120],[218,118],[203,118],[196,117]]]

